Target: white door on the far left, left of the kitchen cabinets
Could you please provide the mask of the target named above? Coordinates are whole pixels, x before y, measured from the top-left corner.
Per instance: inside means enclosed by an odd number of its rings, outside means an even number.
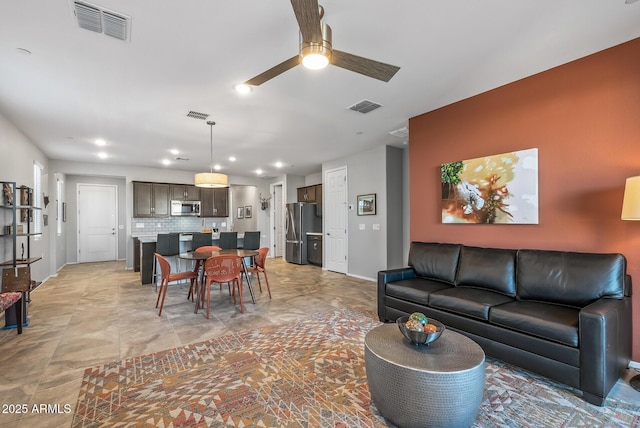
[[[116,260],[117,188],[78,184],[78,261]]]

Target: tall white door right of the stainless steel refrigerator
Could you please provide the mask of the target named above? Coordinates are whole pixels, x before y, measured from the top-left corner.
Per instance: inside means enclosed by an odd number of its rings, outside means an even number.
[[[328,270],[347,273],[347,167],[325,172],[324,260]]]

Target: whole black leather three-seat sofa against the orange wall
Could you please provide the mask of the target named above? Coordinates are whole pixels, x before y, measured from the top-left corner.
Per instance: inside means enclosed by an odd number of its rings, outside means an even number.
[[[378,272],[381,321],[422,312],[598,406],[631,358],[630,296],[621,254],[412,242],[409,267]]]

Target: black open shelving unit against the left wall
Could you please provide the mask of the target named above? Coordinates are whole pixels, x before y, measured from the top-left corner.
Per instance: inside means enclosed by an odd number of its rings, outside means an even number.
[[[11,254],[9,260],[0,262],[0,270],[3,271],[3,291],[21,291],[24,294],[22,299],[23,326],[28,325],[27,306],[30,301],[30,292],[34,287],[39,285],[31,280],[26,285],[11,290],[5,290],[7,284],[4,282],[5,269],[19,269],[29,267],[32,263],[41,260],[42,257],[31,257],[31,237],[40,235],[40,233],[31,232],[31,222],[33,221],[34,211],[40,210],[40,207],[33,206],[33,189],[27,186],[18,186],[14,181],[0,181],[2,185],[2,204],[0,210],[8,211],[10,214],[3,215],[4,225],[0,231],[0,239],[11,239]],[[20,214],[20,221],[18,215]],[[11,220],[7,221],[7,217]],[[22,221],[24,218],[24,221]],[[26,225],[23,225],[25,223]],[[21,228],[21,230],[19,230]],[[18,257],[18,238],[25,237],[20,245],[20,255]],[[26,247],[25,247],[26,243]],[[17,271],[16,271],[17,276]],[[5,329],[17,327],[15,308],[11,307],[5,312]]]

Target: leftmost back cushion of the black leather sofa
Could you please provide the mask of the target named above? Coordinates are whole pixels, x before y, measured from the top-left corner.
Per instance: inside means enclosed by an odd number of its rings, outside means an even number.
[[[461,244],[412,242],[409,247],[409,266],[418,276],[453,284],[460,258]]]

